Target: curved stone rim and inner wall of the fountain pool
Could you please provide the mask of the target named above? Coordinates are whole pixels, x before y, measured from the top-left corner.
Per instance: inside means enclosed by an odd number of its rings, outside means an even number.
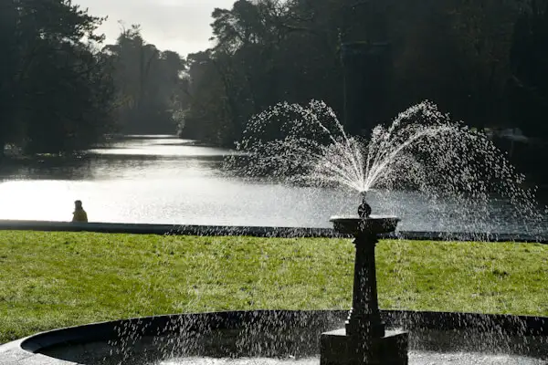
[[[184,328],[184,331],[187,332],[242,328],[243,324],[268,328],[272,327],[272,323],[276,323],[277,327],[281,325],[291,328],[324,330],[325,328],[340,327],[339,325],[347,315],[348,311],[345,310],[254,310],[189,313],[100,322],[55,329],[0,345],[0,363],[3,365],[73,364],[37,352],[67,343],[74,345],[97,340],[117,339],[121,328],[131,328],[132,333],[139,333],[142,336],[181,333],[179,328]],[[413,328],[442,330],[474,328],[479,332],[489,329],[500,334],[548,336],[548,318],[541,317],[400,310],[383,310],[381,315],[387,327],[402,327],[407,330]]]

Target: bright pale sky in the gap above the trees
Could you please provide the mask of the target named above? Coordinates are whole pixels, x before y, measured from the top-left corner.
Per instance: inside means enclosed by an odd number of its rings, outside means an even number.
[[[113,43],[120,35],[121,20],[126,27],[139,24],[142,36],[161,50],[181,56],[210,46],[211,12],[216,7],[231,8],[235,0],[73,0],[88,8],[92,16],[109,16],[100,27]]]

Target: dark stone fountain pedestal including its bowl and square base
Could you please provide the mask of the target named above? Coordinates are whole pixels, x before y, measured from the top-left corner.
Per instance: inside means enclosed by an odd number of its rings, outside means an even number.
[[[378,306],[374,247],[378,235],[395,230],[395,217],[333,217],[337,232],[356,246],[353,306],[345,328],[321,334],[321,365],[406,365],[408,334],[386,331]]]

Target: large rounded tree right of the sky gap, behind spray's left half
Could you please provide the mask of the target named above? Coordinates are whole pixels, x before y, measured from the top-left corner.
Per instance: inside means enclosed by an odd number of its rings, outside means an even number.
[[[319,26],[310,24],[311,15],[304,13],[311,9],[292,6],[275,0],[239,0],[231,9],[214,11],[216,47],[205,53],[205,60],[191,63],[189,74],[194,94],[217,95],[211,101],[223,108],[205,105],[194,96],[185,130],[225,130],[228,134],[201,134],[209,136],[210,142],[231,146],[253,114],[281,100],[308,101],[323,96],[321,99],[340,104],[341,89],[333,88],[330,81],[335,86],[341,81],[338,75],[325,72],[326,68],[338,68],[336,49]],[[197,79],[204,77],[216,82]],[[227,120],[219,120],[219,110],[227,110],[222,113]],[[193,118],[199,114],[203,118]],[[211,121],[202,120],[216,121],[212,126]]]

